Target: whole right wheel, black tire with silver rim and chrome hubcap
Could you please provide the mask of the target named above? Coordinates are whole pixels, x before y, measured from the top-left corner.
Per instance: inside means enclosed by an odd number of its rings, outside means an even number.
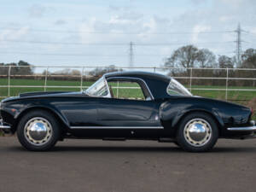
[[[208,151],[217,140],[218,126],[207,113],[190,113],[179,124],[177,143],[186,151]]]

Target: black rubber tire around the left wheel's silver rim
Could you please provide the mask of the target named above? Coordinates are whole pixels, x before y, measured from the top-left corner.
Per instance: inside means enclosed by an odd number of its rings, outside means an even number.
[[[27,122],[36,118],[47,120],[47,123],[49,123],[49,125],[51,126],[50,137],[45,143],[42,143],[40,145],[38,145],[37,143],[33,143],[32,141],[29,141],[25,133],[25,126]],[[55,143],[59,140],[60,135],[61,133],[59,124],[57,120],[54,118],[54,115],[44,110],[36,110],[26,113],[20,119],[20,122],[17,127],[17,137],[19,139],[20,144],[27,150],[31,151],[47,151],[50,148],[53,148],[55,146]]]

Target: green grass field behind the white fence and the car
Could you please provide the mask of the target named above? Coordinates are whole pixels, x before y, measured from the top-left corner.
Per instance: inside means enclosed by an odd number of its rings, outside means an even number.
[[[94,82],[84,81],[83,86],[90,86]],[[7,85],[8,79],[0,79],[0,85]],[[44,86],[44,80],[34,80],[34,79],[11,79],[11,85],[29,85],[29,86]],[[67,81],[67,80],[48,80],[48,86],[80,86],[80,81]],[[111,83],[113,87],[117,86],[116,83]],[[119,87],[137,87],[137,84],[131,83],[119,83]],[[201,85],[193,85],[192,88],[207,88],[207,89],[225,89],[224,86],[201,86]],[[232,87],[229,89],[249,89],[255,91],[228,91],[228,100],[231,102],[237,102],[243,105],[247,105],[248,103],[252,103],[253,98],[256,98],[256,87]],[[79,91],[80,88],[47,88],[46,90],[68,90],[68,91]],[[29,91],[44,91],[44,87],[42,88],[33,88],[33,87],[25,87],[25,88],[10,88],[10,96],[17,96],[21,92],[29,92]],[[118,92],[118,93],[117,93]],[[113,95],[119,97],[134,97],[134,98],[143,98],[143,92],[140,89],[113,89]],[[225,90],[192,90],[192,94],[195,96],[204,96],[209,98],[216,98],[220,100],[225,99]],[[0,88],[0,96],[8,96],[8,88]],[[3,98],[0,98],[0,100]],[[251,102],[250,102],[251,101]],[[255,103],[252,107],[254,107]],[[256,118],[256,117],[255,117]]]

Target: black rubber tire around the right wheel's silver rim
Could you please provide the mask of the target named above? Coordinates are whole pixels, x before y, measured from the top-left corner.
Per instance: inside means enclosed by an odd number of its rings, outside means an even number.
[[[211,125],[212,128],[212,135],[210,140],[203,146],[201,147],[195,147],[191,144],[189,144],[183,134],[183,131],[185,129],[185,125],[187,125],[187,123],[189,122],[189,120],[191,119],[204,119],[207,121],[207,123],[209,125]],[[177,143],[179,143],[179,145],[186,151],[189,152],[206,152],[210,149],[213,148],[213,146],[215,145],[215,143],[218,140],[218,126],[215,122],[214,119],[212,119],[212,117],[210,115],[208,115],[207,113],[189,113],[187,116],[185,116],[179,126],[178,126],[178,130],[177,130]]]

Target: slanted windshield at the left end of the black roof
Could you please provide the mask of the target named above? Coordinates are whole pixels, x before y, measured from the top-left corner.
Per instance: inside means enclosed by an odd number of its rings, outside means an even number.
[[[102,97],[110,96],[108,93],[108,84],[104,79],[104,77],[102,77],[101,79],[98,79],[87,90],[85,90],[85,94],[89,96],[102,96]]]

